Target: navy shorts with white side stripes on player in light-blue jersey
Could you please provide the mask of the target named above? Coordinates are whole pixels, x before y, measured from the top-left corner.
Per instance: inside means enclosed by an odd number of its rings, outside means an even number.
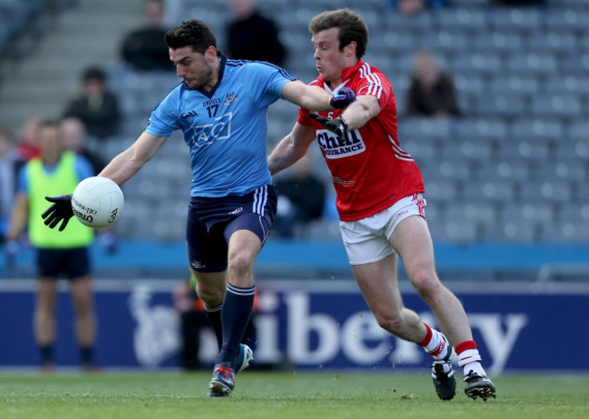
[[[243,196],[192,197],[186,226],[190,267],[198,272],[226,271],[231,235],[248,230],[264,245],[275,214],[274,185],[260,186]]]

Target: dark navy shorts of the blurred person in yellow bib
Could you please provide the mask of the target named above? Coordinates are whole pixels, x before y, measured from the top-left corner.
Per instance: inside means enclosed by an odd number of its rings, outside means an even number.
[[[37,275],[57,279],[60,274],[69,280],[91,272],[88,247],[74,249],[37,249]]]

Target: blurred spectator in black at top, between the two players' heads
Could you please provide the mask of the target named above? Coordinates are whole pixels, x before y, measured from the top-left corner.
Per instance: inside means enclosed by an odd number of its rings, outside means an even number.
[[[260,14],[256,0],[231,0],[235,19],[227,24],[227,57],[283,66],[286,50],[275,23]]]

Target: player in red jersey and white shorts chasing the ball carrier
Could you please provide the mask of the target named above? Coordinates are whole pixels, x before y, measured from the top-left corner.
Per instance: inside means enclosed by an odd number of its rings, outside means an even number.
[[[352,271],[381,328],[423,347],[433,357],[432,378],[440,399],[456,393],[452,347],[465,375],[468,397],[496,395],[481,366],[467,315],[438,278],[420,168],[397,137],[397,105],[390,81],[362,61],[368,28],[350,9],[323,12],[309,24],[319,77],[311,83],[330,93],[355,92],[345,110],[299,109],[293,130],[268,157],[274,175],[304,156],[317,138],[332,173],[343,243]],[[433,311],[439,329],[403,306],[397,261]]]

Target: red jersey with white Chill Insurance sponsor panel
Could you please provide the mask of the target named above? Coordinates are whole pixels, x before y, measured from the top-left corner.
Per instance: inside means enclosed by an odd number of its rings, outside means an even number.
[[[397,137],[397,102],[391,82],[368,62],[343,69],[343,83],[331,90],[318,77],[312,85],[335,92],[351,88],[357,96],[375,96],[381,113],[361,129],[347,132],[340,140],[333,132],[299,109],[298,123],[313,126],[323,157],[332,172],[337,193],[337,210],[342,221],[355,221],[380,213],[405,196],[424,192],[420,168],[401,149]],[[342,111],[318,112],[337,118]]]

